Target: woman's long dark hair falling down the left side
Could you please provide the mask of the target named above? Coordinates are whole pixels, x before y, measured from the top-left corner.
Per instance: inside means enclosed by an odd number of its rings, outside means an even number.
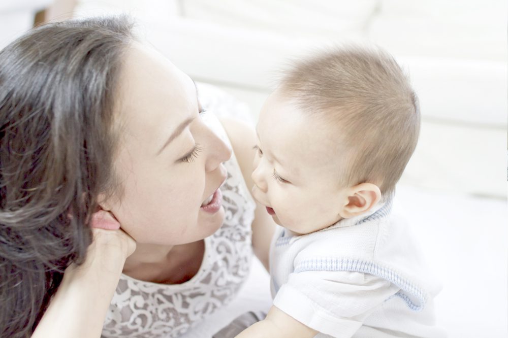
[[[113,111],[125,17],[50,23],[0,52],[0,336],[35,329],[116,189]]]

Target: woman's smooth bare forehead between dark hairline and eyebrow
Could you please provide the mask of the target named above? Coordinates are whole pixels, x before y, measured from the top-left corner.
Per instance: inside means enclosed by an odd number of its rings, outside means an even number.
[[[134,43],[125,55],[117,107],[130,136],[153,148],[197,111],[196,88],[163,55]]]

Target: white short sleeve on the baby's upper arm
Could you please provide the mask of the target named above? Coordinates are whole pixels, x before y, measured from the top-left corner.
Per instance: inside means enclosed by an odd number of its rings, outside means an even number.
[[[273,305],[314,330],[350,337],[374,308],[398,291],[390,282],[364,273],[306,271],[289,275]]]

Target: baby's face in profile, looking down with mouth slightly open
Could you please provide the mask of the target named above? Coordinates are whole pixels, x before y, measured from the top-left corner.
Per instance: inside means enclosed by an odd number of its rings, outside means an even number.
[[[333,129],[278,91],[260,113],[252,194],[277,224],[297,234],[332,225],[347,204],[339,182],[348,156]]]

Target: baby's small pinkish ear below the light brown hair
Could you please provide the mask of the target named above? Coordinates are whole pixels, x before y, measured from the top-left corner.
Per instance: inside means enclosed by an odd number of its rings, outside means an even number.
[[[351,218],[369,211],[381,199],[381,190],[372,183],[360,183],[347,189],[347,201],[340,216]]]

